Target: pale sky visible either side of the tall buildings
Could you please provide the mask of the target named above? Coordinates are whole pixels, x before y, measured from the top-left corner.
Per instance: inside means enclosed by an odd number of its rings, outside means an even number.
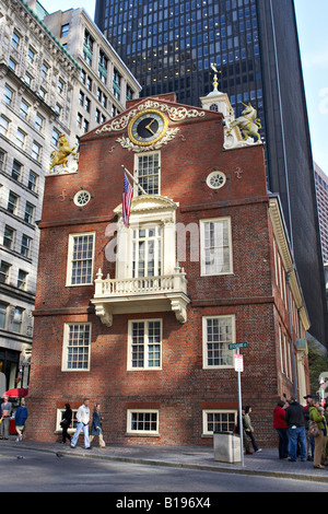
[[[95,0],[39,0],[48,12],[84,8],[94,19]],[[328,0],[294,0],[313,159],[328,175]]]

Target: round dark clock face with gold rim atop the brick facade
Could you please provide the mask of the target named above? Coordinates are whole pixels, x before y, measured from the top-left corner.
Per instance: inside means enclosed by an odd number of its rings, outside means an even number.
[[[147,109],[131,119],[128,133],[130,140],[142,147],[159,141],[167,129],[167,119],[159,110]]]

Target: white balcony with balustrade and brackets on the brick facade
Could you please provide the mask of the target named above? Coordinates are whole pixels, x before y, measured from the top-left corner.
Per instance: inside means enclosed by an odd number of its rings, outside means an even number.
[[[179,323],[187,322],[187,280],[183,268],[172,274],[103,279],[99,269],[91,302],[102,322],[110,327],[115,314],[174,312]]]

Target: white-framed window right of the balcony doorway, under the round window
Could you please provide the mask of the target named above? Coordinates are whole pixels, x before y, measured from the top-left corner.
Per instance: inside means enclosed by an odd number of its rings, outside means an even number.
[[[230,218],[200,222],[201,274],[233,272]]]

